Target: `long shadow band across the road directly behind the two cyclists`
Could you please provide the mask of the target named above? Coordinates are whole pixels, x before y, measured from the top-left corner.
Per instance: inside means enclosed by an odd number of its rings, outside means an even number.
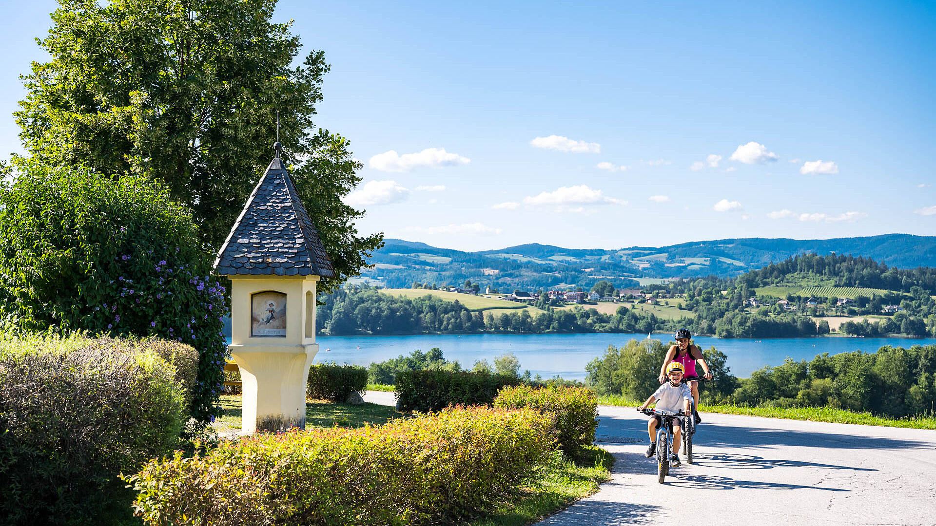
[[[598,432],[634,436],[647,443],[647,421],[642,418],[601,416]],[[856,428],[858,432],[858,428]],[[642,433],[642,434],[641,434]],[[822,431],[772,430],[727,424],[702,423],[693,437],[699,446],[772,448],[774,446],[831,447],[836,449],[932,449],[929,442]]]

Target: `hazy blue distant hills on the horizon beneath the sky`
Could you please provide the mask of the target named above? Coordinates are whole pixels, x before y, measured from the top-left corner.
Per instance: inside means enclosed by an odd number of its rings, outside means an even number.
[[[936,267],[936,237],[909,234],[833,240],[746,238],[619,250],[528,243],[480,252],[388,239],[371,258],[373,269],[356,281],[396,287],[414,282],[461,285],[471,280],[482,288],[490,285],[502,291],[566,286],[587,289],[599,280],[624,287],[665,278],[736,275],[812,252],[870,257],[899,269]]]

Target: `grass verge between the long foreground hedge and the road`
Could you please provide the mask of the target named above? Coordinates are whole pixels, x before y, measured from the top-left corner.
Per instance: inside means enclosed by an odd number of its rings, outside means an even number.
[[[521,488],[519,497],[501,504],[473,526],[530,524],[567,507],[598,490],[610,478],[614,458],[596,446],[583,447],[575,460],[556,452]]]

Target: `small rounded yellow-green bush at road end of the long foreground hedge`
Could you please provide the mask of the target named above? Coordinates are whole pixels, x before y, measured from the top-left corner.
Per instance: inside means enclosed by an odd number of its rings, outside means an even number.
[[[571,455],[580,446],[590,446],[598,427],[598,401],[585,387],[504,387],[494,399],[502,409],[536,409],[556,418],[559,446]]]

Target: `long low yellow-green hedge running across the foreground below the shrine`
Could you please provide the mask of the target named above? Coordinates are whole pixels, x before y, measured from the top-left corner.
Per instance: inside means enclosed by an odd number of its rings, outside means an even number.
[[[554,432],[536,411],[448,408],[380,427],[260,434],[152,460],[127,480],[152,525],[459,523],[533,475]]]

